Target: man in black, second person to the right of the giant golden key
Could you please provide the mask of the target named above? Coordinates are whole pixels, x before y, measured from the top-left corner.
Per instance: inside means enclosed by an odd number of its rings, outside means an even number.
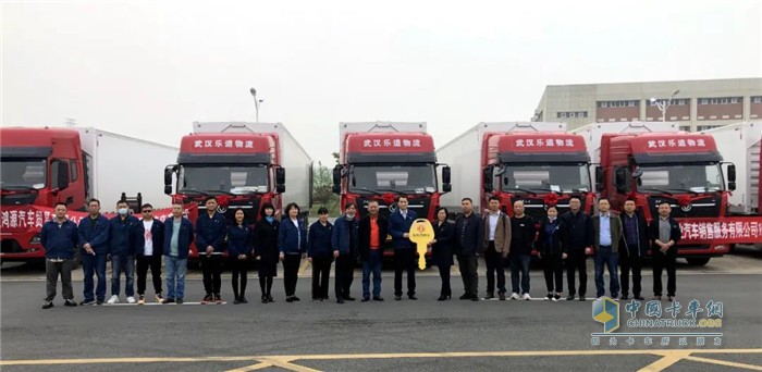
[[[479,256],[481,240],[484,236],[481,218],[474,213],[474,202],[470,198],[460,200],[463,215],[455,221],[455,239],[457,240],[457,260],[463,277],[465,294],[460,299],[479,300]]]

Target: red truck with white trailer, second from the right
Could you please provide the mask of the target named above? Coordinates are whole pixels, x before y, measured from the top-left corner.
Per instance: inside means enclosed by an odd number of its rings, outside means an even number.
[[[590,157],[579,135],[567,134],[564,123],[479,123],[438,149],[440,160],[453,164],[457,193],[443,198],[451,212],[460,211],[460,199],[474,199],[475,209],[487,210],[497,196],[503,211],[513,215],[513,202],[524,200],[526,213],[545,216],[545,204],[563,213],[572,196],[591,212]]]

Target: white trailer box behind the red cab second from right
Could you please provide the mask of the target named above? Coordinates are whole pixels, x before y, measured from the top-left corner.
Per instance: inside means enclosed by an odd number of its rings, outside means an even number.
[[[458,212],[460,199],[471,198],[474,210],[481,210],[481,150],[487,133],[566,132],[566,123],[496,122],[479,123],[455,139],[437,148],[437,160],[452,169],[453,193],[442,196],[442,206]],[[441,178],[440,178],[441,179]]]

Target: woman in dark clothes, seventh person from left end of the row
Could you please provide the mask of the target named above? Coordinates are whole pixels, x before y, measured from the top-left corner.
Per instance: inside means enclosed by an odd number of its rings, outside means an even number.
[[[228,260],[233,272],[233,303],[248,303],[246,283],[248,282],[248,263],[251,257],[251,227],[244,223],[244,210],[235,210],[235,223],[228,225]],[[241,285],[238,285],[241,276]]]

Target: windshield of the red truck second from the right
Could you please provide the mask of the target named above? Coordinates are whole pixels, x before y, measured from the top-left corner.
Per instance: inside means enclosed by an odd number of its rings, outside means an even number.
[[[590,171],[587,164],[503,164],[502,189],[521,188],[531,191],[587,193],[590,191]],[[506,183],[507,177],[507,183]]]

